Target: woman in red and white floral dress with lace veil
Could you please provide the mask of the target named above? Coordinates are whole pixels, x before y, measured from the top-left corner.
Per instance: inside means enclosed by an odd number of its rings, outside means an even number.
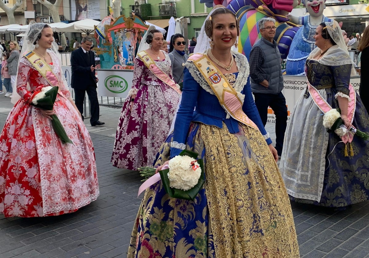
[[[17,75],[21,98],[0,135],[0,213],[5,217],[75,212],[99,196],[93,144],[66,86],[52,35],[48,25],[34,23],[22,49]],[[32,94],[47,86],[59,86],[51,111],[30,104]],[[62,143],[55,134],[54,114],[73,144]]]

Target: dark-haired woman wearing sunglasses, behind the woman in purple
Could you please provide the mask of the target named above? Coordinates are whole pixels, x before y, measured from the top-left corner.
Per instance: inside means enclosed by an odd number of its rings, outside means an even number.
[[[183,81],[183,69],[184,63],[188,59],[188,55],[184,51],[186,48],[186,41],[184,41],[184,36],[182,34],[174,34],[170,38],[170,48],[169,48],[169,58],[172,62],[172,73],[173,78],[176,83],[181,83]]]

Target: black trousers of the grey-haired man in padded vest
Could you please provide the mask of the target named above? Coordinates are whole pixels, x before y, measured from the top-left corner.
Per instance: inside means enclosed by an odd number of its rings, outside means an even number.
[[[287,128],[287,106],[286,99],[282,92],[279,94],[253,93],[255,96],[255,105],[263,125],[266,125],[268,119],[268,107],[271,107],[276,116],[276,150],[278,155],[282,154],[284,132]]]

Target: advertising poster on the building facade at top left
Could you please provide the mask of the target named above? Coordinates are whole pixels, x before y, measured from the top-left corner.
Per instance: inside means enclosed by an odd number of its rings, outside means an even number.
[[[70,0],[70,17],[72,20],[100,19],[99,0]]]

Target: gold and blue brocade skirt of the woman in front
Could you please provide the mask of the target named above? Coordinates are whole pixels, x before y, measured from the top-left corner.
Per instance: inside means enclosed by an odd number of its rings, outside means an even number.
[[[168,160],[171,141],[155,165]],[[258,130],[191,123],[186,149],[204,159],[204,189],[195,201],[173,200],[160,182],[146,189],[128,257],[300,257],[286,188]]]

